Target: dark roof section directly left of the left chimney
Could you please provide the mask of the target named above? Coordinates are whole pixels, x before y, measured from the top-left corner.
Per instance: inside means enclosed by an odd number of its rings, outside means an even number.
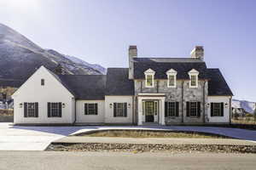
[[[134,82],[128,68],[108,68],[106,95],[134,95]]]

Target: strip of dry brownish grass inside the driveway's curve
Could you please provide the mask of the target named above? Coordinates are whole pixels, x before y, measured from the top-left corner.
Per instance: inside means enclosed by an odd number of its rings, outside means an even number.
[[[215,134],[206,133],[184,133],[184,132],[160,132],[160,131],[142,131],[142,130],[108,130],[90,134],[79,134],[87,137],[119,137],[119,138],[228,138]]]

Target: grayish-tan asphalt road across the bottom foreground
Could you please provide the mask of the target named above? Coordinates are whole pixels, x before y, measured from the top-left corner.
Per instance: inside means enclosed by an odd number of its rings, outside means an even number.
[[[255,169],[251,154],[0,151],[1,170]]]

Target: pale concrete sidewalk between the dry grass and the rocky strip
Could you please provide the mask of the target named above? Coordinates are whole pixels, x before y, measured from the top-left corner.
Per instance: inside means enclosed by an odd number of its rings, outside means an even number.
[[[107,143],[107,144],[226,144],[256,145],[256,143],[240,139],[183,139],[183,138],[113,138],[70,136],[57,139],[52,144],[60,143]]]

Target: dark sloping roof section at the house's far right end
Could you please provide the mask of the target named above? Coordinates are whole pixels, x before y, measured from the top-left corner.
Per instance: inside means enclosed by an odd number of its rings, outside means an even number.
[[[233,95],[219,69],[207,69],[207,73],[210,78],[208,82],[208,95]]]

